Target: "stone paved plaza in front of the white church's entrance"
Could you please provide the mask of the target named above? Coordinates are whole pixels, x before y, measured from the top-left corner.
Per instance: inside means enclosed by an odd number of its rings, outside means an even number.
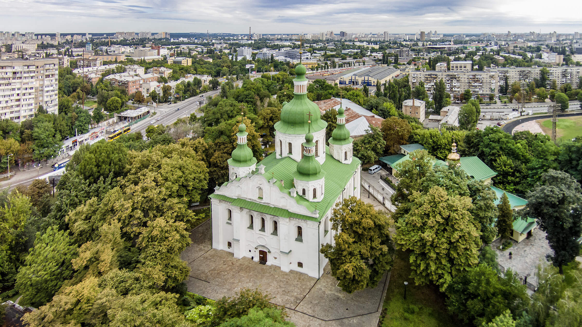
[[[212,249],[211,219],[194,229],[190,238],[193,243],[182,253],[182,260],[191,268],[186,280],[190,292],[218,300],[235,296],[243,287],[260,287],[274,297],[272,303],[285,306],[290,320],[300,327],[377,325],[389,274],[375,289],[347,294],[336,286],[329,265],[317,279]]]

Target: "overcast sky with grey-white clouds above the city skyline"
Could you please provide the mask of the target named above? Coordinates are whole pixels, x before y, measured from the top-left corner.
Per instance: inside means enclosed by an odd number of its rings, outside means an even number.
[[[0,30],[41,33],[582,32],[582,1],[0,0]]]

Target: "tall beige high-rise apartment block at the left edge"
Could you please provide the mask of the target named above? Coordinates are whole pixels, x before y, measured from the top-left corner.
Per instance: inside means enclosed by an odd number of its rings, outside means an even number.
[[[58,113],[59,60],[0,60],[0,119],[22,122],[38,106]]]

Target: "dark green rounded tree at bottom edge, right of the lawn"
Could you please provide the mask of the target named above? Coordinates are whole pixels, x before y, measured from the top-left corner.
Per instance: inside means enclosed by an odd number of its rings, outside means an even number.
[[[488,265],[467,269],[446,289],[447,307],[465,323],[481,326],[509,310],[516,315],[528,304],[526,286],[511,271],[500,278]]]

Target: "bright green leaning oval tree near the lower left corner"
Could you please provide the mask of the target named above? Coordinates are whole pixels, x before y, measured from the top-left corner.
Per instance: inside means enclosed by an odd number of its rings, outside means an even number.
[[[16,288],[21,305],[39,307],[51,301],[65,280],[72,278],[71,260],[77,257],[77,247],[67,232],[49,227],[37,233],[34,247],[16,276]]]

